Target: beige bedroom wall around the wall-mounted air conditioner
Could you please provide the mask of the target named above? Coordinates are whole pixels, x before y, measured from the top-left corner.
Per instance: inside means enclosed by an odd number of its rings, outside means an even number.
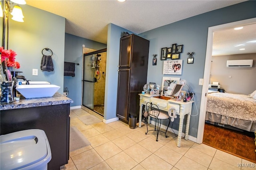
[[[226,67],[227,60],[253,59],[252,67]],[[248,95],[256,90],[256,53],[212,56],[210,84],[218,81],[227,93]],[[231,76],[231,78],[229,78]]]

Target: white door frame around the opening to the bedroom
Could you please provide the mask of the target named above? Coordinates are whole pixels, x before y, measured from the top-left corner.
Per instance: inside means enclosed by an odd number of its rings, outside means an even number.
[[[205,64],[204,64],[204,81],[203,81],[203,87],[202,87],[200,115],[199,115],[199,121],[198,121],[198,132],[197,132],[197,141],[196,141],[197,143],[202,143],[203,136],[204,136],[206,101],[207,101],[207,94],[208,94],[208,85],[210,81],[210,69],[211,69],[211,61],[212,61],[212,43],[213,43],[214,32],[218,30],[229,29],[235,26],[248,25],[252,23],[256,23],[256,18],[251,18],[248,20],[242,20],[237,22],[231,22],[228,24],[222,24],[222,25],[208,28],[206,57],[205,57]]]

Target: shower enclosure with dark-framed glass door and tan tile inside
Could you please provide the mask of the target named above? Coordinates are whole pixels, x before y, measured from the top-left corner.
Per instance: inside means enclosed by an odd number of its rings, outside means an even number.
[[[85,53],[83,59],[82,105],[104,115],[106,51]]]

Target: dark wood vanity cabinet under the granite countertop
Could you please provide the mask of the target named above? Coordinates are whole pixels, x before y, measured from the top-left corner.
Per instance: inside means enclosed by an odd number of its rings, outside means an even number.
[[[1,110],[0,134],[42,129],[48,138],[52,159],[48,170],[60,170],[69,159],[70,104]]]

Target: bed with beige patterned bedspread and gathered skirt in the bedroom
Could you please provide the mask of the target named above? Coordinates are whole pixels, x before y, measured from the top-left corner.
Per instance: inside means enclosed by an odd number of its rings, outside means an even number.
[[[206,107],[207,121],[255,132],[256,100],[249,95],[209,91]]]

